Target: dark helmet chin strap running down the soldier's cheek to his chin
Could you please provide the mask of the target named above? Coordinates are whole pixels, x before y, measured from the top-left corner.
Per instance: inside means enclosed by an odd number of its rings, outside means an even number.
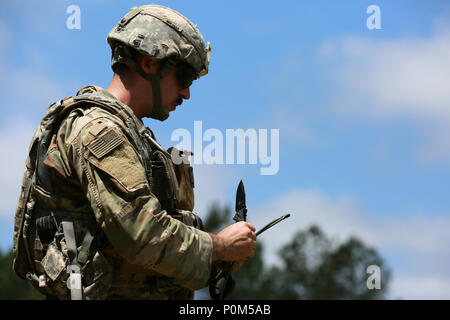
[[[137,72],[141,77],[148,80],[152,84],[153,92],[153,108],[150,117],[160,121],[164,121],[169,117],[169,111],[165,110],[161,103],[161,79],[175,68],[176,60],[167,59],[160,61],[158,72],[156,74],[146,73],[137,61],[131,58],[131,53],[126,46],[118,45],[113,50],[112,65],[115,63],[124,63],[131,70]]]

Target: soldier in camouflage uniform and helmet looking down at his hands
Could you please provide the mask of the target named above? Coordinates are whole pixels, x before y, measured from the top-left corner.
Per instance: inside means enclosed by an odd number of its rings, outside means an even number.
[[[186,155],[142,118],[165,120],[208,72],[210,47],[180,13],[134,7],[108,35],[114,76],[53,103],[29,149],[14,270],[48,298],[192,299],[213,265],[253,255],[255,228],[202,231]],[[177,161],[175,161],[177,160]]]

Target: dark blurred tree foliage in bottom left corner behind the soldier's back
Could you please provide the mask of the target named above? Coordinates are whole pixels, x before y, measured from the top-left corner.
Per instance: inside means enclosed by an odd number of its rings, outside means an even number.
[[[5,253],[0,251],[0,300],[42,299],[43,295],[34,289],[28,281],[18,277],[14,273],[12,268],[13,258],[12,250]]]

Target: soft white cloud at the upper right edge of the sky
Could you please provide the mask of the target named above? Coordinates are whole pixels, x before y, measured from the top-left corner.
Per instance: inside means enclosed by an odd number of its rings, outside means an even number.
[[[350,107],[379,116],[450,117],[450,33],[401,41],[349,37],[341,46],[349,62],[339,80],[366,102]]]

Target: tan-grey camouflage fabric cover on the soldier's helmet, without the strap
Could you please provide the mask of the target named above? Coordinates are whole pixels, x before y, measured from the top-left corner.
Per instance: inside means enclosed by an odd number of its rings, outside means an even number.
[[[208,73],[209,43],[205,45],[197,26],[167,7],[151,4],[131,8],[110,31],[107,40],[111,49],[118,41],[150,58],[185,61],[194,68],[197,77]]]

